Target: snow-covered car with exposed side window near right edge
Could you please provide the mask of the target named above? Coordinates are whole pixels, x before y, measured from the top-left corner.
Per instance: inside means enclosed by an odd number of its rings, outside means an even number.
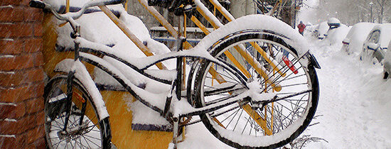
[[[373,27],[368,34],[360,53],[360,60],[369,60],[373,63],[381,62],[387,45],[391,40],[391,23],[384,23]],[[374,60],[376,58],[376,60]]]

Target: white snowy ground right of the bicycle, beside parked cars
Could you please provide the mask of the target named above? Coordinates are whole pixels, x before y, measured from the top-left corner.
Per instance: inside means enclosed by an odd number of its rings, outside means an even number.
[[[382,65],[341,52],[341,44],[311,42],[321,64],[321,95],[314,122],[305,132],[328,141],[309,148],[390,148],[391,80],[382,80]],[[320,44],[319,44],[320,43]]]

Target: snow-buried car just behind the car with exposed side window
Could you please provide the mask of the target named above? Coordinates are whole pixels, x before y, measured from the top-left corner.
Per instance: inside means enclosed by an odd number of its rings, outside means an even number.
[[[343,39],[342,51],[345,51],[349,55],[353,53],[355,55],[360,54],[360,51],[363,49],[365,38],[367,38],[372,28],[376,25],[377,23],[356,23],[352,28],[350,28],[346,38]]]

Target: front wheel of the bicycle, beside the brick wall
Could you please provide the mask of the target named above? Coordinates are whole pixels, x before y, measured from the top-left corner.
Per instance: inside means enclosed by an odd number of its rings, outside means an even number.
[[[66,75],[53,77],[45,86],[45,138],[48,148],[111,148],[108,118],[105,118],[107,121],[99,121],[100,116],[92,97],[77,78],[73,79],[73,99],[67,131],[62,131],[68,113],[65,109],[66,94]]]

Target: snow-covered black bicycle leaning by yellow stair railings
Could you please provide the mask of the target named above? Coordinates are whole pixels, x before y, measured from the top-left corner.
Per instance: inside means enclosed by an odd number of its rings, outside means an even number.
[[[244,16],[213,31],[191,50],[181,50],[186,39],[178,38],[178,51],[143,57],[139,62],[139,58],[117,55],[106,45],[81,38],[80,25],[75,21],[92,6],[122,1],[90,1],[80,11],[65,14],[42,1],[30,2],[30,6],[50,10],[59,20],[70,23],[70,36],[75,43],[75,58],[60,62],[55,69],[60,75],[45,87],[45,136],[49,148],[115,146],[111,143],[105,103],[80,60],[107,72],[141,103],[171,122],[174,147],[178,128],[200,121],[213,136],[235,148],[278,148],[309,126],[318,104],[315,68],[320,66],[303,43],[304,38],[290,26],[269,16]],[[185,7],[179,7],[182,4]],[[191,10],[184,9],[187,6],[200,4],[172,1],[170,9],[181,15]],[[132,82],[102,55],[168,85],[169,91],[164,96],[146,91],[145,84]],[[183,57],[195,59],[186,94],[181,89]],[[177,59],[175,73],[150,69],[171,59]],[[200,120],[190,121],[191,116],[200,116]],[[88,135],[97,137],[82,140]]]

